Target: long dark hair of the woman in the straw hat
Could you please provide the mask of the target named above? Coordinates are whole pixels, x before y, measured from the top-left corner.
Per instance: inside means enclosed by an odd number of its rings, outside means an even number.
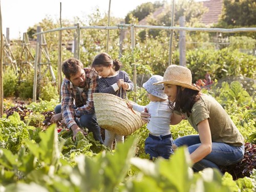
[[[174,102],[169,101],[169,107],[175,111],[181,111],[182,113],[191,113],[191,109],[195,102],[200,98],[199,91],[184,88],[181,90],[181,86],[177,86],[177,95]]]

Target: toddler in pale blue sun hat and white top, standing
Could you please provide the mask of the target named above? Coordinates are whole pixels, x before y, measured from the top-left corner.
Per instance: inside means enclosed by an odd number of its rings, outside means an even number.
[[[163,84],[154,85],[163,80],[160,75],[153,75],[142,87],[147,91],[147,96],[151,100],[146,106],[127,103],[128,108],[135,111],[146,111],[151,114],[150,122],[147,123],[147,129],[150,134],[145,140],[145,153],[150,154],[150,158],[163,157],[169,159],[173,154],[172,134],[170,134],[170,116],[172,111],[168,108],[168,100],[163,92]]]

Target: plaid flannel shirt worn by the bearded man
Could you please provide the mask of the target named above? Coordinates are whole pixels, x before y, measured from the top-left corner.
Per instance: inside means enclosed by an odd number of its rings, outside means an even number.
[[[76,124],[75,117],[93,114],[93,93],[98,92],[98,74],[96,71],[84,68],[86,87],[80,92],[72,82],[64,78],[61,84],[61,113],[65,124],[70,127]]]

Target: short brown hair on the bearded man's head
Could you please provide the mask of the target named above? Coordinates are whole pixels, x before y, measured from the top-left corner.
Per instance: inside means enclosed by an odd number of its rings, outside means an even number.
[[[76,58],[69,58],[62,63],[61,69],[67,79],[75,75],[80,69],[83,68],[81,61]]]

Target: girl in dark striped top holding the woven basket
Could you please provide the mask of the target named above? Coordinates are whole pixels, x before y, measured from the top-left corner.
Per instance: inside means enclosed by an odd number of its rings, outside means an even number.
[[[124,99],[126,98],[126,91],[133,90],[133,82],[126,72],[119,71],[120,66],[121,63],[117,59],[113,60],[107,53],[100,53],[94,58],[92,67],[100,76],[100,93],[109,93]],[[110,147],[111,150],[113,148],[114,139],[116,144],[117,142],[124,142],[124,136],[105,130],[104,145]]]

